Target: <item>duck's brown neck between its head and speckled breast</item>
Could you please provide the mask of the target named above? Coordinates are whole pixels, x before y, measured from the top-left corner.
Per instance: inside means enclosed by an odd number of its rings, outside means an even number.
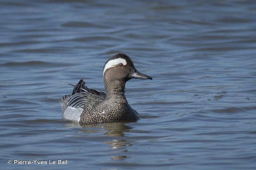
[[[107,98],[125,99],[125,82],[118,80],[104,81]]]

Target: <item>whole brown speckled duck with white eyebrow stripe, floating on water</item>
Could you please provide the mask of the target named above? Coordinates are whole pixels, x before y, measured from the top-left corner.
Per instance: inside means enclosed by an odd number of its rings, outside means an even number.
[[[60,98],[63,119],[81,125],[136,121],[139,114],[125,97],[125,85],[131,79],[152,77],[139,72],[126,54],[113,55],[103,67],[105,92],[90,89],[80,80],[70,95]]]

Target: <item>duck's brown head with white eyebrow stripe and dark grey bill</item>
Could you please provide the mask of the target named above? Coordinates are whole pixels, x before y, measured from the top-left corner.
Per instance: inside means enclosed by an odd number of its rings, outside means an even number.
[[[113,55],[108,61],[106,61],[103,69],[104,82],[116,81],[127,82],[131,79],[151,79],[152,77],[139,72],[130,57],[123,53]]]

